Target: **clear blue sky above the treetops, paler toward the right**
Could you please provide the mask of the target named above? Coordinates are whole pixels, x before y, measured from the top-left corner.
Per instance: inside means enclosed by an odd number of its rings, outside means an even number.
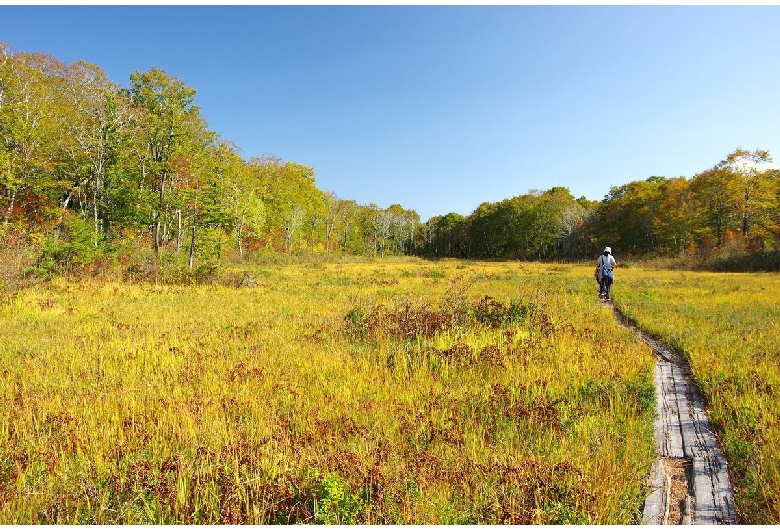
[[[780,7],[0,6],[14,51],[197,89],[249,159],[422,220],[529,189],[602,199],[737,147],[780,162]]]

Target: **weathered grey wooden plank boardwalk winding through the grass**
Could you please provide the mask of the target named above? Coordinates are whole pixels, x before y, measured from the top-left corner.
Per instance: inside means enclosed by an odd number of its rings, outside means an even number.
[[[618,320],[647,343],[655,365],[658,460],[651,472],[644,524],[736,524],[734,492],[726,460],[688,363],[614,309]]]

